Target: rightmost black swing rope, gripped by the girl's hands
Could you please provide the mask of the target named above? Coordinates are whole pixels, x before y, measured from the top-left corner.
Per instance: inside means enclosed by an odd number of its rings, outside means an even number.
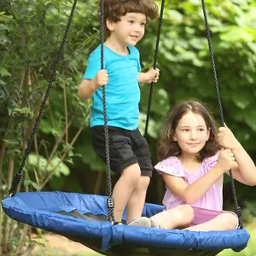
[[[210,54],[211,61],[212,61],[212,71],[213,71],[213,77],[214,77],[214,81],[215,81],[215,88],[216,88],[216,93],[217,93],[217,98],[218,98],[219,115],[220,115],[221,125],[224,126],[224,113],[223,113],[223,108],[222,108],[222,103],[221,103],[220,92],[219,92],[215,61],[214,61],[214,56],[213,56],[213,51],[212,51],[211,32],[210,32],[209,25],[208,25],[208,20],[207,20],[207,9],[206,9],[206,5],[205,5],[205,1],[201,0],[201,4],[202,4],[202,10],[203,10],[203,15],[204,15],[205,25],[206,25],[207,42],[208,42],[209,54]],[[238,216],[238,219],[239,219],[239,227],[242,229],[243,224],[242,224],[242,219],[241,219],[241,207],[239,207],[239,204],[238,204],[238,201],[237,201],[236,187],[235,187],[235,182],[234,182],[234,178],[233,178],[233,174],[232,174],[231,170],[230,170],[230,181],[231,181],[232,195],[233,195],[234,203],[235,203],[235,212],[236,212],[236,215]]]

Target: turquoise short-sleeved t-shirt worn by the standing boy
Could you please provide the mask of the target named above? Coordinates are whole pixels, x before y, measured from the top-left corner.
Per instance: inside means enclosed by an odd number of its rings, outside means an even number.
[[[138,127],[140,89],[138,72],[141,71],[137,48],[128,47],[129,55],[119,55],[104,45],[104,69],[108,71],[105,86],[108,125],[136,130]],[[83,79],[94,79],[101,70],[101,46],[91,54]],[[92,96],[90,127],[104,125],[102,87]]]

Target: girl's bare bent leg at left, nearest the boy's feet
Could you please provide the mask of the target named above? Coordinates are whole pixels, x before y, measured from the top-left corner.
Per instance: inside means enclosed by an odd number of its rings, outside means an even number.
[[[194,219],[193,208],[189,205],[181,205],[172,209],[160,212],[150,219],[154,224],[159,224],[161,229],[177,229],[188,227]]]

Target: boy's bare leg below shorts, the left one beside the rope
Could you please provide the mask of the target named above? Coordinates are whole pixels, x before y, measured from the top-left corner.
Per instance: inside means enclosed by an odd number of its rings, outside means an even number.
[[[122,220],[123,212],[125,210],[125,206],[127,202],[130,200],[131,195],[134,189],[137,186],[137,183],[141,177],[141,170],[138,164],[134,164],[125,168],[123,172],[121,172],[121,176],[119,180],[114,185],[113,188],[113,199],[114,199],[114,208],[113,208],[113,216],[116,222],[120,222]],[[127,209],[127,218],[126,221],[130,221],[128,218],[128,209]],[[140,212],[142,214],[142,212]],[[141,214],[138,216],[140,217]]]

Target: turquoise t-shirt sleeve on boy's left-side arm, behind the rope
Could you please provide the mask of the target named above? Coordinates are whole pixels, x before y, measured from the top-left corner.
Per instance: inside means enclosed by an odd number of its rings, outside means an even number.
[[[104,59],[104,66],[105,66]],[[96,73],[101,70],[101,52],[99,50],[94,51],[90,54],[88,59],[88,64],[83,76],[83,79],[94,79],[96,77]]]

